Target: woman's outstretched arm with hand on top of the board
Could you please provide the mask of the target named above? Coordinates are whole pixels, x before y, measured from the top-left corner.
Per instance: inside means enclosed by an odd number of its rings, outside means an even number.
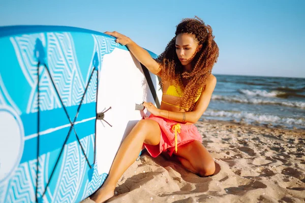
[[[161,76],[161,66],[160,64],[150,56],[150,54],[137,45],[135,42],[133,42],[130,38],[116,32],[105,32],[107,35],[111,35],[116,38],[115,42],[120,43],[121,45],[126,45],[129,49],[129,51],[136,57],[140,63],[142,63],[147,69],[158,76]]]

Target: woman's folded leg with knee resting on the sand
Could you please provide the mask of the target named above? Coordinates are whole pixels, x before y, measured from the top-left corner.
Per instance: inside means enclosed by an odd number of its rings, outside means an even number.
[[[197,140],[178,147],[174,154],[188,160],[193,168],[202,176],[214,174],[215,162],[210,153]]]

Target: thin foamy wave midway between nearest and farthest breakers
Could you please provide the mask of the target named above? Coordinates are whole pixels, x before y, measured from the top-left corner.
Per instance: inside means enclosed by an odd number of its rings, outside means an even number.
[[[305,102],[302,101],[276,101],[261,98],[246,98],[241,96],[212,95],[212,100],[223,100],[229,103],[254,104],[254,105],[279,105],[305,109]]]

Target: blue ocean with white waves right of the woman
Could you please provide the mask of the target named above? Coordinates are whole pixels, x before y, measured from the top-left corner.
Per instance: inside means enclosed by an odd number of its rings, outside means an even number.
[[[201,120],[305,129],[305,78],[215,75]]]

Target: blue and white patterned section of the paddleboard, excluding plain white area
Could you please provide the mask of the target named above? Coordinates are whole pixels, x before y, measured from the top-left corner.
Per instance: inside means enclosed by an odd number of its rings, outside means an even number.
[[[79,202],[102,185],[97,92],[115,49],[92,30],[0,27],[0,202]]]

